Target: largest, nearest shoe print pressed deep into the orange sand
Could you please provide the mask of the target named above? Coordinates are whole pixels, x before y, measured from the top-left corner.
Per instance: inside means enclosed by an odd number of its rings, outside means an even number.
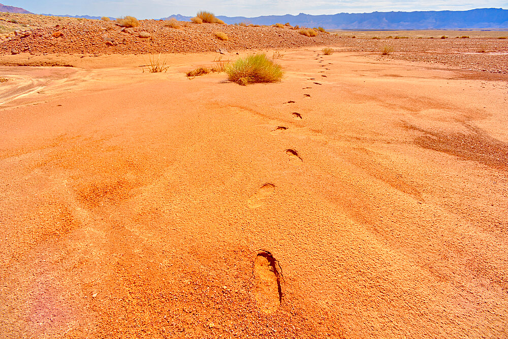
[[[252,265],[254,277],[252,292],[258,308],[264,313],[275,312],[282,301],[280,273],[277,267],[280,268],[268,251],[258,253]]]

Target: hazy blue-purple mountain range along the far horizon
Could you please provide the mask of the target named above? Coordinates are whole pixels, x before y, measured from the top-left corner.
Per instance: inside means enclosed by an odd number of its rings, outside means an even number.
[[[12,6],[0,4],[0,12],[26,13],[30,12]],[[73,18],[100,19],[98,16],[88,15],[54,15]],[[180,21],[188,21],[189,16],[171,15]],[[469,11],[420,11],[420,12],[372,12],[372,13],[338,13],[331,15],[267,15],[255,18],[227,17],[218,15],[217,18],[228,24],[252,23],[258,25],[272,25],[286,23],[305,27],[322,26],[326,29],[508,29],[508,10],[501,8],[481,8]],[[113,18],[112,18],[113,19]]]

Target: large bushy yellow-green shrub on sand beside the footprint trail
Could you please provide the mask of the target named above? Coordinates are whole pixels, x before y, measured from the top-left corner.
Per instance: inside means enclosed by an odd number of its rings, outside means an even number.
[[[226,67],[229,81],[240,85],[258,82],[279,82],[284,74],[282,67],[266,54],[259,53],[239,58]]]

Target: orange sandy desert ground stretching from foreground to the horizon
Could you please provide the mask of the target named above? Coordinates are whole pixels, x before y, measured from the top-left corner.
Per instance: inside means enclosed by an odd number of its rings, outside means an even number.
[[[0,337],[507,337],[508,40],[37,29],[0,56]],[[258,51],[281,82],[185,75]]]

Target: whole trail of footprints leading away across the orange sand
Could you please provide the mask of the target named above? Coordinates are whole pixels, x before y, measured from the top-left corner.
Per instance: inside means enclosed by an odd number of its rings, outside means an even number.
[[[315,60],[319,60],[319,58],[323,59],[323,56],[318,54],[318,58]],[[319,63],[323,62],[323,60],[318,61]],[[332,64],[328,62],[328,64]],[[322,67],[326,65],[320,65]],[[329,70],[325,67],[325,70]],[[318,73],[324,73],[324,71],[319,71]],[[326,75],[321,75],[321,77],[326,78]],[[315,78],[309,78],[307,80],[316,80]],[[315,85],[322,85],[319,82],[313,82]],[[302,90],[311,89],[312,87],[304,87]],[[310,97],[310,94],[303,94],[304,97]],[[295,104],[295,101],[289,100],[284,104]],[[292,112],[291,115],[296,120],[302,120],[303,117],[298,112]],[[280,134],[284,131],[288,130],[286,126],[277,126],[275,129],[271,130],[271,134]],[[302,157],[298,154],[295,149],[286,149],[284,150],[285,154],[290,158],[291,161],[303,162]],[[264,204],[264,201],[270,197],[275,192],[276,186],[271,183],[266,183],[261,186],[258,191],[253,194],[251,197],[247,199],[247,206],[251,209],[256,209],[261,207]],[[254,278],[254,288],[253,294],[256,299],[259,310],[264,313],[273,313],[280,306],[282,301],[282,289],[280,285],[280,279],[282,277],[282,272],[280,269],[280,265],[278,261],[275,260],[273,255],[266,251],[260,250],[258,251],[256,257],[253,259],[252,263],[252,276]]]

